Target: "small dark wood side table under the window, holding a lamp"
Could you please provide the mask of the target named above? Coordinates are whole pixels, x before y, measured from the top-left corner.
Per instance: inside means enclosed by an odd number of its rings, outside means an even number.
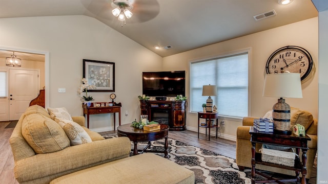
[[[205,135],[207,136],[207,129],[209,128],[209,141],[211,137],[211,128],[216,128],[216,139],[217,139],[217,128],[218,128],[218,112],[198,112],[198,139],[199,139],[199,127],[205,128]],[[206,125],[200,125],[199,119],[205,119]],[[211,125],[211,120],[216,119],[216,125]],[[209,120],[207,122],[207,120]]]

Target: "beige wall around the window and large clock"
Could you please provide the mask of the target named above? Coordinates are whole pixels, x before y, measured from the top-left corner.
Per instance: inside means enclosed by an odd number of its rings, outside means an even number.
[[[219,33],[218,33],[219,34]],[[318,18],[296,22],[287,26],[262,31],[259,33],[208,45],[199,49],[163,58],[163,71],[185,70],[187,73],[186,96],[189,94],[189,63],[201,58],[209,58],[240,50],[251,50],[250,62],[250,109],[249,116],[262,117],[272,109],[276,98],[262,97],[265,64],[269,56],[277,49],[286,45],[297,45],[308,50],[314,61],[314,74],[302,83],[302,99],[286,99],[290,106],[309,110],[318,118]],[[218,104],[219,105],[219,104]],[[227,119],[221,137],[234,140],[236,128],[241,119]],[[187,114],[189,130],[197,131],[197,114]]]

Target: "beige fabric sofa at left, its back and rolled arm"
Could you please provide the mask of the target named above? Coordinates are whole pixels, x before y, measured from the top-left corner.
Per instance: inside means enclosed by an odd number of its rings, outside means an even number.
[[[24,138],[26,135],[23,136],[26,133],[22,131],[26,127],[25,125],[38,122],[55,132],[53,129],[56,128],[55,124],[57,123],[50,118],[45,108],[38,105],[28,107],[22,117],[20,117],[10,137],[10,146],[15,161],[14,175],[19,183],[49,183],[59,176],[129,157],[131,142],[128,137],[105,140],[100,134],[84,127],[84,117],[72,117],[72,119],[83,126],[90,135],[92,142],[76,146],[68,145],[59,151],[37,154],[30,146],[31,143],[28,143]],[[41,139],[44,139],[44,142],[47,142],[49,139],[45,134],[40,136],[44,136],[41,137]],[[55,144],[63,145],[63,142],[67,144],[66,139],[68,138],[65,137],[64,141],[55,140],[54,142]],[[49,150],[57,146],[54,144],[50,145],[50,148],[46,148],[47,145],[41,144],[38,143],[36,145],[41,150]]]

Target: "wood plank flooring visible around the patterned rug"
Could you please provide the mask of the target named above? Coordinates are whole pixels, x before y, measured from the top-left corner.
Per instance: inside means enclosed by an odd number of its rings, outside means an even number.
[[[5,128],[9,123],[10,122],[0,122],[0,183],[16,184],[18,182],[14,178],[13,173],[14,159],[9,145],[9,137],[13,128]],[[100,134],[110,133],[115,133],[115,131],[100,132]],[[208,141],[208,137],[205,137],[205,134],[199,134],[198,139],[197,132],[189,130],[170,131],[169,138],[198,148],[207,149],[230,158],[236,158],[236,143],[234,141],[220,138],[215,139],[215,136],[211,136],[211,141]],[[314,172],[309,183],[316,183],[316,172]]]

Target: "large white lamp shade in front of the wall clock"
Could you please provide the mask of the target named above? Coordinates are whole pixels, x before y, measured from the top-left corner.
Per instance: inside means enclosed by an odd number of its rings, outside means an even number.
[[[264,97],[303,98],[300,74],[267,74],[264,80]]]

